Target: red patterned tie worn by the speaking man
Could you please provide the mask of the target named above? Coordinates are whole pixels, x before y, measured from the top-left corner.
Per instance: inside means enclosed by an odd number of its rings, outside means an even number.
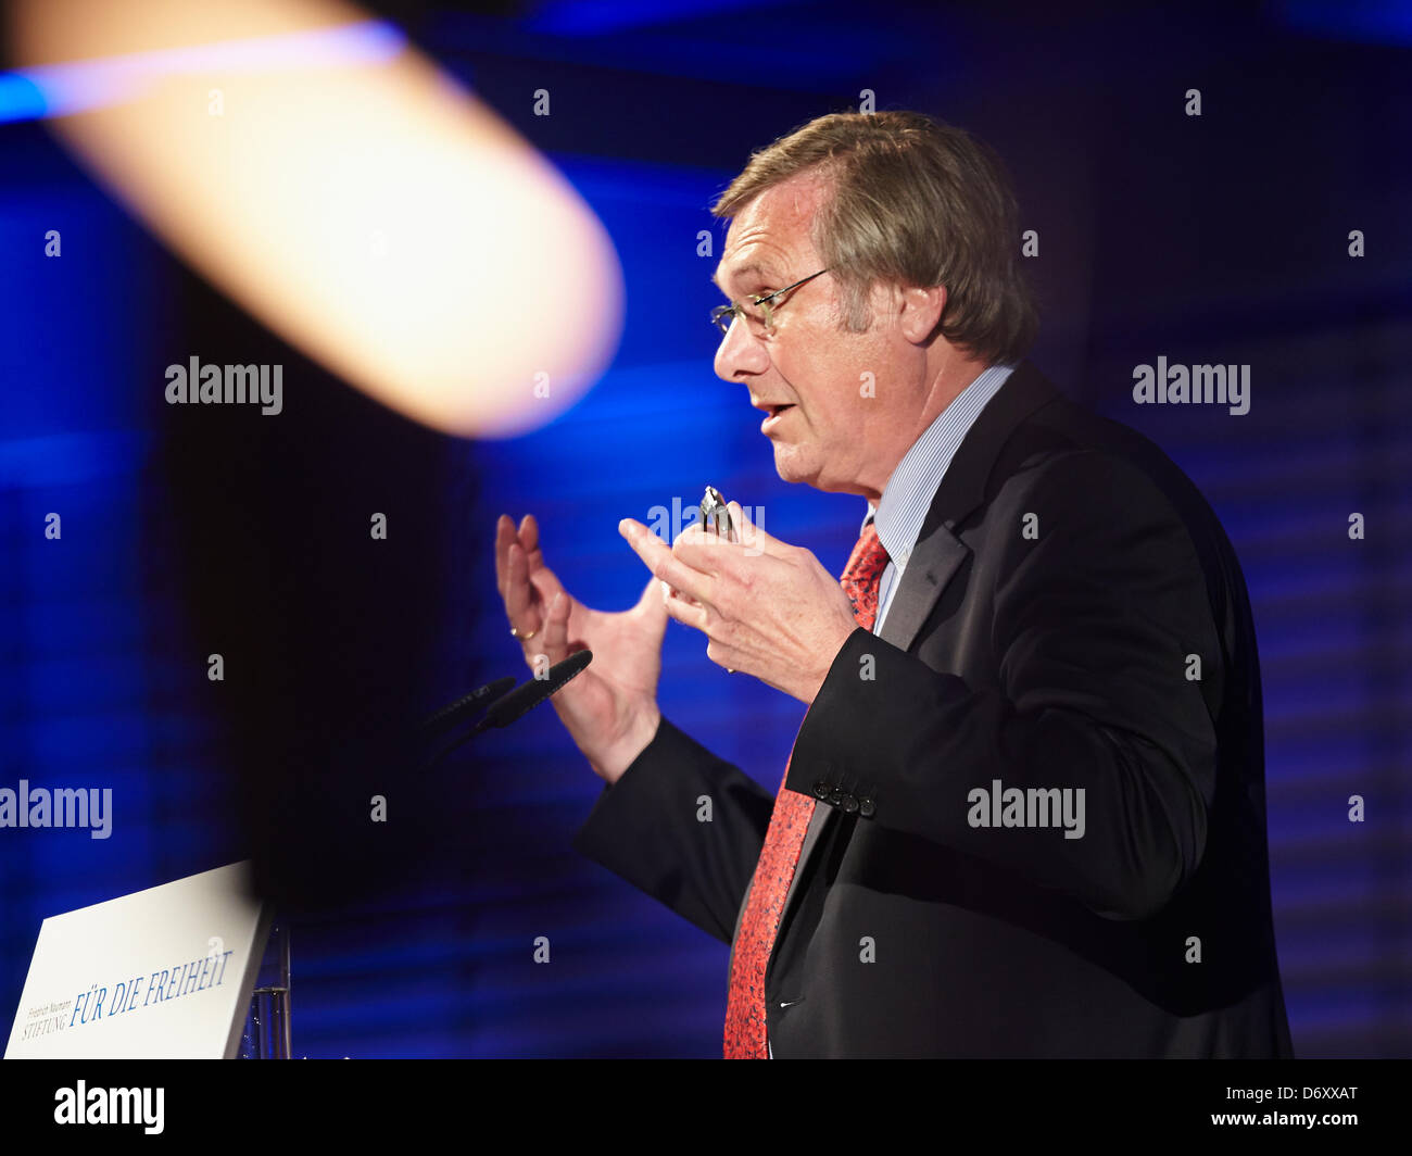
[[[853,603],[858,626],[871,630],[878,616],[878,581],[887,568],[887,551],[870,520],[843,570],[843,592]],[[789,777],[789,763],[785,776]],[[755,865],[755,880],[746,903],[746,914],[736,937],[730,967],[730,992],[726,998],[726,1058],[764,1060],[770,1056],[765,1040],[765,968],[774,951],[779,916],[794,880],[803,837],[813,815],[813,798],[785,790],[779,780],[775,810],[770,815],[765,845]]]

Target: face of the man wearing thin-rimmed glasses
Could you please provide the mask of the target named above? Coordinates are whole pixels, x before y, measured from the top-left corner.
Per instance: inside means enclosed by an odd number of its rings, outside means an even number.
[[[809,223],[825,195],[826,185],[805,174],[733,218],[716,271],[730,300],[774,293],[823,269]],[[842,328],[839,281],[825,273],[771,302],[774,335],[761,336],[737,318],[716,350],[716,376],[746,386],[750,403],[762,410],[761,432],[786,482],[881,492],[897,464],[894,444],[911,444],[905,435],[918,394],[907,373],[915,372],[915,358],[908,358],[915,348],[890,324],[887,294],[874,291],[873,300],[881,308],[867,332]]]

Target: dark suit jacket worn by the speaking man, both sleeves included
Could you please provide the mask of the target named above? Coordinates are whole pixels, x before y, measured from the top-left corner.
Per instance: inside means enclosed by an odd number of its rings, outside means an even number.
[[[1264,779],[1214,513],[1022,363],[795,741],[786,786],[822,801],[765,979],[775,1057],[1291,1056]],[[1083,789],[1083,837],[971,825],[995,780]],[[772,806],[664,719],[575,847],[730,943]]]

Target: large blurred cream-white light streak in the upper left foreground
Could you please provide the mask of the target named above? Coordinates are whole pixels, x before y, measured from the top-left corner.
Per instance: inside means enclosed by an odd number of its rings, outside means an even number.
[[[10,88],[193,269],[371,397],[513,435],[611,358],[603,226],[395,28],[336,0],[10,11]]]

